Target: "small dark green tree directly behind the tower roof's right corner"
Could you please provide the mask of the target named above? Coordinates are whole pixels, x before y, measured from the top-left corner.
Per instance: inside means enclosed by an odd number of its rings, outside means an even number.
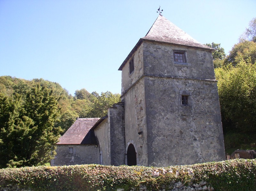
[[[214,68],[221,67],[224,62],[223,59],[226,57],[224,48],[221,48],[220,44],[217,44],[214,42],[212,42],[212,44],[206,43],[205,45],[215,49],[215,51],[212,53],[212,60],[213,60]]]

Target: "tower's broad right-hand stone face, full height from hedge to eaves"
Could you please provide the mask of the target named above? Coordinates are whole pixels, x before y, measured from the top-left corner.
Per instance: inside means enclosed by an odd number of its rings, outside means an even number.
[[[211,52],[149,43],[143,50],[149,165],[224,160]],[[187,64],[175,64],[173,50],[186,51]],[[182,95],[188,106],[181,104]]]

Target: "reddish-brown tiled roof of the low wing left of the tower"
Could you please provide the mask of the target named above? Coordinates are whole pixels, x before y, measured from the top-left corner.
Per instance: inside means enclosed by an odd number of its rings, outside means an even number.
[[[93,125],[100,118],[79,118],[62,135],[57,144],[97,144],[97,140],[92,130]]]

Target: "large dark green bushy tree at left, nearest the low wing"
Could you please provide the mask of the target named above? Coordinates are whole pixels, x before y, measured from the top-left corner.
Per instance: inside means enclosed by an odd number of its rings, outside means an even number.
[[[18,90],[18,89],[17,89]],[[0,167],[43,165],[54,156],[58,99],[39,84],[25,94],[0,95]]]

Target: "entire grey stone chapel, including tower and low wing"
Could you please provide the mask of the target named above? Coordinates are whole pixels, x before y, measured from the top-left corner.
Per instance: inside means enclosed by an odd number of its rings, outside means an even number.
[[[121,102],[100,119],[77,119],[51,165],[225,160],[213,51],[159,15],[118,69]]]

